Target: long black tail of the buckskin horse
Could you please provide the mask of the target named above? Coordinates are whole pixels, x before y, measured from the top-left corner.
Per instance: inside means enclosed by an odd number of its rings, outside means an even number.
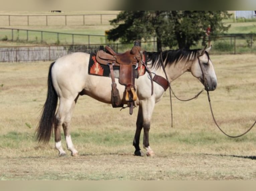
[[[53,88],[51,80],[51,68],[55,62],[51,63],[48,73],[48,93],[43,106],[42,116],[36,129],[36,139],[38,142],[49,142],[52,134],[55,111],[58,103],[58,96]]]

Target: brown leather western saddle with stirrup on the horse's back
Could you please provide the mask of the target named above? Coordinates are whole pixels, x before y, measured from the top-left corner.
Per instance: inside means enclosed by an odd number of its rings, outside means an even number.
[[[119,83],[125,86],[124,97],[127,105],[130,107],[130,114],[133,112],[134,101],[137,99],[135,89],[135,70],[140,67],[142,56],[140,53],[140,46],[136,43],[130,51],[125,53],[115,53],[109,46],[105,47],[106,51],[100,50],[96,54],[96,61],[99,64],[108,65],[110,69],[110,76],[112,80],[111,103],[113,107],[123,107],[120,94],[115,82],[113,66],[119,66]]]

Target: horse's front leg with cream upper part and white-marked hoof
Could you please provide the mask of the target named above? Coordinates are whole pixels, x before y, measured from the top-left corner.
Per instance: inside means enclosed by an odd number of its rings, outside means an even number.
[[[150,120],[155,106],[155,100],[148,99],[142,104],[142,114],[143,114],[143,148],[147,150],[147,156],[154,156],[154,151],[149,146],[149,130],[150,130]]]

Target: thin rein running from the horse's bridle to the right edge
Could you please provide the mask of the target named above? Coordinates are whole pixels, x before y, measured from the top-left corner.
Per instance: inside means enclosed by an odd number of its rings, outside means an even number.
[[[198,62],[199,62],[199,65],[200,65],[200,68],[201,68],[201,71],[202,71],[203,78],[204,78],[204,85],[205,85],[205,89],[206,89],[206,91],[207,91],[208,101],[209,101],[209,105],[210,105],[210,110],[211,110],[212,117],[213,117],[213,120],[214,120],[215,124],[217,125],[217,127],[220,129],[220,131],[221,131],[223,134],[225,134],[226,136],[228,136],[228,137],[230,137],[230,138],[238,138],[238,137],[241,137],[241,136],[245,135],[246,133],[248,133],[248,132],[254,127],[254,125],[256,124],[256,120],[254,121],[254,123],[252,124],[252,126],[251,126],[249,129],[247,129],[244,133],[242,133],[242,134],[240,134],[240,135],[237,135],[237,136],[231,136],[231,135],[225,133],[225,132],[222,130],[222,128],[218,125],[218,123],[217,123],[217,121],[216,121],[216,119],[215,119],[215,117],[214,117],[214,114],[213,114],[213,109],[212,109],[212,104],[211,104],[211,98],[210,98],[210,94],[209,94],[208,84],[207,84],[207,81],[206,81],[206,79],[205,79],[205,75],[204,75],[204,72],[203,72],[203,68],[202,68],[202,66],[201,66],[201,62],[200,62],[200,59],[199,59],[200,56],[202,56],[202,55],[199,55],[199,56],[198,56]],[[209,62],[209,61],[208,61],[208,62]]]

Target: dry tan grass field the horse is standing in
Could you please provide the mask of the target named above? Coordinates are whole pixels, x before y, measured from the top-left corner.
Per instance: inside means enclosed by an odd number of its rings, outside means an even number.
[[[210,93],[215,117],[225,132],[240,134],[256,119],[256,56],[211,59],[218,78]],[[133,156],[137,108],[129,115],[81,96],[71,128],[80,155],[58,157],[53,139],[46,145],[34,140],[49,64],[0,63],[0,180],[256,179],[255,127],[241,138],[223,135],[211,117],[206,92],[189,102],[172,96],[173,128],[168,91],[156,104],[149,136],[155,157]],[[186,73],[172,88],[180,98],[189,98],[203,86]]]

